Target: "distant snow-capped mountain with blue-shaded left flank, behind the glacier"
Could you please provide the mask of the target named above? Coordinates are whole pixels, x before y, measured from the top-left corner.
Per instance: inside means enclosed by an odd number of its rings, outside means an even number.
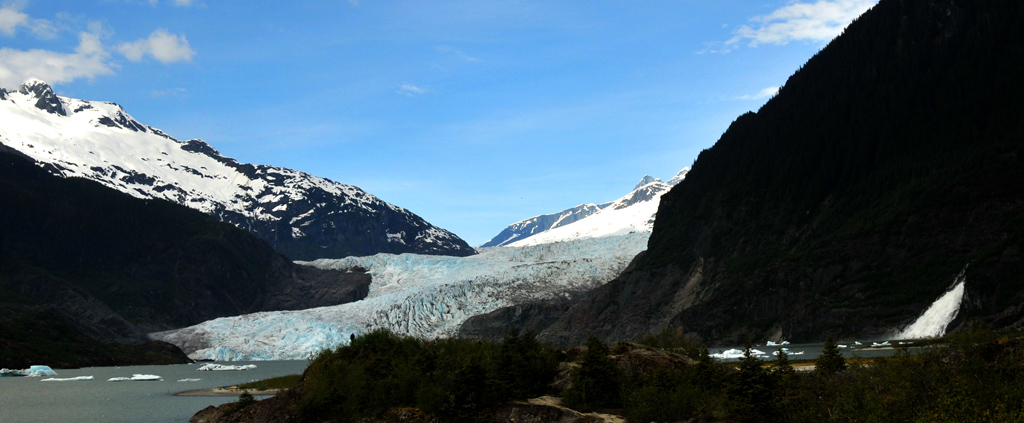
[[[585,204],[555,214],[512,223],[483,247],[522,247],[579,238],[651,231],[662,195],[686,177],[680,170],[669,182],[645,175],[625,197],[604,204]]]

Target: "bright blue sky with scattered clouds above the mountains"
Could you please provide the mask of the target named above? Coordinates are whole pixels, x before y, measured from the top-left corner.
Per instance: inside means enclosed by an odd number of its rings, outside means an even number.
[[[0,1],[0,86],[116,101],[479,245],[671,178],[876,2]]]

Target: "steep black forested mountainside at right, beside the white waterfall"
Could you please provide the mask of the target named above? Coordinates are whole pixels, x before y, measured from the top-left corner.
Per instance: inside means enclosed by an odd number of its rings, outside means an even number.
[[[1024,320],[1024,3],[882,0],[667,194],[635,266],[542,339],[884,336]]]

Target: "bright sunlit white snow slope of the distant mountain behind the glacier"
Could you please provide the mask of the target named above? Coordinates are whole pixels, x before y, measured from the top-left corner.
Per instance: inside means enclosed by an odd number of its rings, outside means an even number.
[[[568,224],[554,225],[542,231],[525,235],[525,237],[520,237],[518,240],[510,240],[511,242],[503,245],[523,247],[582,238],[608,237],[632,232],[650,234],[654,225],[654,216],[657,214],[657,206],[660,203],[662,195],[668,193],[669,189],[672,189],[672,186],[682,181],[688,171],[689,168],[684,168],[668,183],[663,182],[660,179],[644,176],[633,192],[625,197],[600,206],[591,205],[596,210],[586,217]],[[537,218],[516,222],[509,227],[516,227],[523,222],[534,219]]]

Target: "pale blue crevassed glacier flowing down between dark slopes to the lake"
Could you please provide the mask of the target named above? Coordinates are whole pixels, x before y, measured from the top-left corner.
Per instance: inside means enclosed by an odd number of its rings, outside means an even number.
[[[425,339],[455,336],[469,318],[498,308],[590,291],[614,279],[649,234],[629,234],[530,247],[481,249],[470,257],[377,254],[322,259],[322,268],[366,268],[361,301],[295,311],[223,318],[151,338],[193,358],[302,359],[384,328]]]

